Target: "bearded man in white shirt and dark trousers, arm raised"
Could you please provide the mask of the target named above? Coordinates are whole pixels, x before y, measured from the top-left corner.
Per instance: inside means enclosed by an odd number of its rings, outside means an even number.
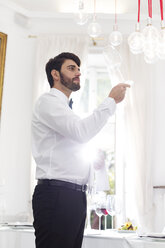
[[[114,87],[93,114],[80,119],[69,107],[70,94],[80,89],[80,59],[61,53],[48,61],[46,73],[51,89],[38,99],[32,120],[38,179],[33,195],[36,248],[80,248],[90,171],[82,151],[124,99],[129,85]]]

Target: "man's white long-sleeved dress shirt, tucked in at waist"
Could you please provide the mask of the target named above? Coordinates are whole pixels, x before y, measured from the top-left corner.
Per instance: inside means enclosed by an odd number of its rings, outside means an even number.
[[[106,124],[116,108],[107,97],[87,118],[81,119],[69,107],[69,99],[51,88],[37,101],[32,118],[32,153],[36,179],[58,179],[86,184],[90,163],[84,154],[86,143]]]

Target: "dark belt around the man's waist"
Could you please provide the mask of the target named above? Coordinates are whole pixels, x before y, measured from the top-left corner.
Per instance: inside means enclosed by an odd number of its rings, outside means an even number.
[[[79,185],[75,183],[70,183],[66,181],[56,180],[56,179],[39,179],[37,184],[59,186],[68,189],[73,189],[81,192],[87,191],[87,185]]]

